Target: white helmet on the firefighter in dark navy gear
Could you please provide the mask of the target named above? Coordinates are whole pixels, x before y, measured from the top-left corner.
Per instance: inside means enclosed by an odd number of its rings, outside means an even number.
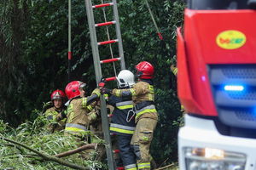
[[[116,79],[119,82],[119,88],[131,88],[135,84],[134,74],[128,70],[120,71]]]

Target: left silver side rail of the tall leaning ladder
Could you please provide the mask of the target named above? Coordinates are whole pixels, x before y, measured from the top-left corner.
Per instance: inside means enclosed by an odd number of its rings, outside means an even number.
[[[99,50],[98,50],[97,38],[96,38],[95,21],[93,17],[91,0],[85,0],[85,7],[86,7],[88,24],[90,28],[90,42],[91,42],[91,48],[92,48],[92,54],[93,54],[94,68],[96,73],[96,83],[98,84],[102,78],[102,68],[100,64]],[[108,168],[110,170],[115,170],[115,162],[113,160],[112,144],[111,144],[110,133],[109,133],[107,105],[103,95],[101,95],[101,112],[102,112],[101,114],[102,127],[103,127],[104,139],[106,142],[106,152],[108,157]]]

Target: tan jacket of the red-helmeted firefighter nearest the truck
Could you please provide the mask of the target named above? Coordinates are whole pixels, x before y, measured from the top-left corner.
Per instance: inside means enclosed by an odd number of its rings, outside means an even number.
[[[154,106],[154,87],[151,79],[142,79],[133,88],[113,89],[112,94],[117,97],[132,96],[135,104],[136,122],[148,117],[157,120],[157,111]]]

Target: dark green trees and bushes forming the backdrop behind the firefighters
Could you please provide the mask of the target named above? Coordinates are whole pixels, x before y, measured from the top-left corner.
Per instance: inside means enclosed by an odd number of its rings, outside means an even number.
[[[148,3],[163,41],[157,37],[144,1],[119,1],[119,20],[126,68],[135,73],[134,66],[143,60],[151,62],[155,68],[156,106],[160,122],[155,131],[152,155],[159,166],[164,166],[177,161],[177,129],[182,122],[176,80],[169,67],[176,62],[175,31],[183,23],[184,4],[179,0],[148,0]],[[96,82],[84,1],[72,0],[72,4],[71,78],[86,82],[90,94]],[[106,13],[110,17],[111,10]],[[102,22],[102,10],[95,14],[96,22]],[[109,29],[113,32],[113,28]],[[97,35],[100,35],[99,41],[107,39],[104,28],[97,30]],[[108,47],[100,51],[102,59],[109,57]],[[113,54],[115,57],[118,55],[114,46]],[[14,128],[35,120],[43,102],[49,100],[49,94],[56,88],[64,90],[68,83],[67,1],[1,1],[0,56],[0,119]],[[104,77],[114,75],[111,64],[103,66],[102,70]],[[21,127],[15,133],[19,133]],[[26,142],[26,139],[22,140]],[[38,148],[37,145],[32,146]]]

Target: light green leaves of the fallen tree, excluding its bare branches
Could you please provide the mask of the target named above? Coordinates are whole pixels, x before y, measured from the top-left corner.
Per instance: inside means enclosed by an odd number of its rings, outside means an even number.
[[[78,147],[78,140],[73,136],[64,136],[63,132],[48,133],[45,128],[47,122],[48,121],[45,116],[42,115],[39,115],[34,122],[22,123],[17,128],[9,127],[8,124],[0,121],[0,137],[5,137],[22,144],[26,144],[32,149],[38,150],[42,153],[47,153],[51,156],[67,150],[73,150]],[[53,161],[43,160],[40,156],[20,147],[20,145],[11,144],[1,138],[0,148],[1,169],[71,169]],[[91,159],[89,161],[85,161],[79,154],[74,154],[73,156],[67,156],[61,159],[84,167],[104,169],[105,165],[101,162],[95,161],[94,155],[95,154],[91,153]]]

